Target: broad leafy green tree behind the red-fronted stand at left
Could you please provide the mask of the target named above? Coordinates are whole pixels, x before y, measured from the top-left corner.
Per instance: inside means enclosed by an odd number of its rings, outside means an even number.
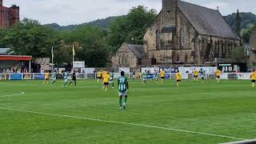
[[[59,44],[54,30],[28,18],[4,31],[2,41],[18,55],[32,55],[34,58],[50,57],[51,47]]]

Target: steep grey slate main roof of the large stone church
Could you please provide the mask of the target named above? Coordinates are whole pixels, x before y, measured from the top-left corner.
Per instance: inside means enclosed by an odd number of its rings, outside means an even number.
[[[218,10],[183,1],[180,1],[178,6],[199,34],[239,39]]]

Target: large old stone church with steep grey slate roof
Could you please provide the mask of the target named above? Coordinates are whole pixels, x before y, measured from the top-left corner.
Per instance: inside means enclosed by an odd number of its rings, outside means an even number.
[[[218,10],[180,0],[162,0],[162,10],[144,35],[142,58],[136,58],[136,66],[217,66],[230,62],[230,50],[240,46],[239,33],[240,30],[236,34],[231,29]],[[114,67],[125,66],[120,61],[123,55],[127,57],[123,46],[112,58]]]

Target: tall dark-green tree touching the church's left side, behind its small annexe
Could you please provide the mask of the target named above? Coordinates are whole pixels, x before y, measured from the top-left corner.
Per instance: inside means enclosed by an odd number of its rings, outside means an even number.
[[[126,16],[112,22],[107,38],[112,51],[118,50],[123,42],[143,44],[144,34],[153,24],[156,15],[157,11],[154,9],[148,10],[145,6],[137,6],[133,7]]]

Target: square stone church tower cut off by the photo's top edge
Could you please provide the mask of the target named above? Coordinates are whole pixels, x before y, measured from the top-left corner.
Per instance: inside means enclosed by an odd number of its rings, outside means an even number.
[[[176,26],[179,0],[162,0],[162,25]]]

